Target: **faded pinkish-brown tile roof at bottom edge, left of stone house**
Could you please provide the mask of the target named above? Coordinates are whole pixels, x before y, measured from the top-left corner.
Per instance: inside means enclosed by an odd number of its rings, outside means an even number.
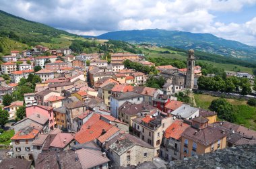
[[[107,157],[102,156],[102,152],[100,150],[94,150],[89,148],[80,149],[76,151],[76,154],[79,158],[82,168],[84,169],[94,168],[110,161]]]

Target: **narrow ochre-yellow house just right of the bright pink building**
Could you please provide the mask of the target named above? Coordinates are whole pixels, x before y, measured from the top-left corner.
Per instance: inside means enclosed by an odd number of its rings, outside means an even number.
[[[55,116],[55,127],[59,127],[60,129],[67,129],[65,107],[53,109],[53,113]]]

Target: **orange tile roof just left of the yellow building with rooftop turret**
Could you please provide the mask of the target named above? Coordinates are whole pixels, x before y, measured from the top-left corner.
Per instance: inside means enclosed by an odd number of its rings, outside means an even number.
[[[181,134],[190,125],[183,123],[183,121],[177,119],[175,120],[165,131],[164,136],[169,139],[170,137],[174,139],[181,139]]]

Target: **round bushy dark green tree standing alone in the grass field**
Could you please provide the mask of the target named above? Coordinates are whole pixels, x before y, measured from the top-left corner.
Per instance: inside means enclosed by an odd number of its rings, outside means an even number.
[[[212,101],[209,108],[211,111],[216,111],[220,119],[224,119],[231,123],[236,121],[236,117],[233,113],[233,105],[228,103],[226,99],[215,99],[214,101]]]

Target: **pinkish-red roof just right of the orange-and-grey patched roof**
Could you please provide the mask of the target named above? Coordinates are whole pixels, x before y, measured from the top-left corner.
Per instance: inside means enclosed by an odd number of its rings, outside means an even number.
[[[73,133],[57,133],[50,147],[65,148],[74,139]]]

